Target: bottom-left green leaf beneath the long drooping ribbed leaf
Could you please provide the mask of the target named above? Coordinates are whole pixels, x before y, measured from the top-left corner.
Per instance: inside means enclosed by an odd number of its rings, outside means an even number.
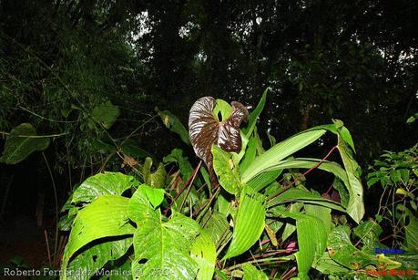
[[[115,261],[127,253],[127,249],[132,245],[132,237],[125,237],[118,240],[103,241],[95,244],[77,254],[69,263],[67,276],[68,279],[90,279],[107,262]],[[83,272],[77,274],[77,272]]]

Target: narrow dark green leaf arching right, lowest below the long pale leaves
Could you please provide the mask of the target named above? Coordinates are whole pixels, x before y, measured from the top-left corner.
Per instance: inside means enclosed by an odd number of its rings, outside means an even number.
[[[270,202],[268,202],[267,207],[270,208],[272,206],[287,202],[306,202],[325,206],[327,208],[335,209],[345,213],[345,209],[339,203],[322,198],[319,194],[296,188],[291,188],[286,192],[281,193],[279,196],[273,198],[270,200]]]

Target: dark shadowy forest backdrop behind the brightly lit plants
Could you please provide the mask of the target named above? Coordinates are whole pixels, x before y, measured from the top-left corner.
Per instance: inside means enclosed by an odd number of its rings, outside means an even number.
[[[194,159],[158,109],[186,125],[199,97],[254,108],[270,88],[266,143],[267,131],[283,140],[342,119],[367,168],[417,140],[416,122],[406,123],[418,111],[416,15],[413,0],[0,0],[0,131],[30,122],[59,134],[45,155],[61,206],[88,175],[120,169],[97,140],[135,130],[155,161],[176,147]],[[88,116],[106,101],[120,114],[100,130]],[[40,153],[0,164],[3,220],[34,214],[39,192],[53,208],[47,168]]]

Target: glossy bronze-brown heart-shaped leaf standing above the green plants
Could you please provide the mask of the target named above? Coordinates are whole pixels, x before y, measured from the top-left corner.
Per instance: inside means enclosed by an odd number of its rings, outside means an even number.
[[[190,109],[190,142],[196,155],[208,166],[214,185],[218,181],[212,166],[212,144],[218,145],[222,150],[240,152],[240,124],[242,121],[247,122],[249,118],[248,110],[240,102],[233,101],[231,105],[232,113],[224,121],[219,121],[214,116],[216,100],[212,97],[198,99]]]

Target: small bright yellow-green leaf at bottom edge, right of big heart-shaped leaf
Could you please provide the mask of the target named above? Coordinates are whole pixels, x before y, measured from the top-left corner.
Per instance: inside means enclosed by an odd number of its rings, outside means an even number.
[[[198,263],[197,279],[211,280],[215,271],[216,248],[209,233],[202,230],[190,250],[191,257]]]

